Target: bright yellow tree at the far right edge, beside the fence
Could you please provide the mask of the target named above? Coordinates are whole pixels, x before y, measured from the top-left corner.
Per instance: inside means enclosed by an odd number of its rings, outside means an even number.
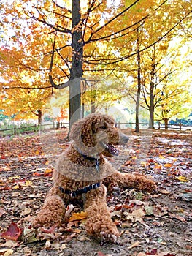
[[[174,39],[175,40],[175,39]],[[188,54],[191,51],[190,45],[185,43],[180,48],[174,42],[174,46],[169,47],[169,50],[173,50],[177,55],[172,58],[172,65],[174,64],[174,72],[171,72],[167,76],[166,80],[162,80],[162,86],[160,89],[161,96],[158,97],[156,102],[155,116],[158,120],[163,120],[166,129],[171,118],[182,118],[188,116],[191,112],[191,65]],[[185,57],[185,58],[183,58]],[[171,66],[170,61],[166,63],[166,66]]]

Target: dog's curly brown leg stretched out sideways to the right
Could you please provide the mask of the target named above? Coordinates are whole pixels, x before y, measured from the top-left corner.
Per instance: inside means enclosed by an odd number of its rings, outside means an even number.
[[[153,192],[157,187],[155,182],[142,175],[134,175],[131,173],[120,173],[116,171],[111,176],[104,178],[103,183],[108,185],[118,185],[119,187],[136,188],[144,192]]]

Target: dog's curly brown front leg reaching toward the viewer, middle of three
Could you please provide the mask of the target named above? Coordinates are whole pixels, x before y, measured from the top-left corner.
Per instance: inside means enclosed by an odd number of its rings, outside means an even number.
[[[89,235],[100,238],[102,242],[112,241],[116,243],[120,234],[110,217],[106,203],[106,192],[107,189],[102,184],[99,189],[91,190],[86,195],[84,206],[88,218],[85,228]]]

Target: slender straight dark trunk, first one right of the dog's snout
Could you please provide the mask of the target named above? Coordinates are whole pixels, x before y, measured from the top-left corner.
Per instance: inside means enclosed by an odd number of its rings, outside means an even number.
[[[135,109],[135,131],[139,132],[139,101],[141,94],[141,57],[139,50],[139,28],[137,28],[137,99]]]

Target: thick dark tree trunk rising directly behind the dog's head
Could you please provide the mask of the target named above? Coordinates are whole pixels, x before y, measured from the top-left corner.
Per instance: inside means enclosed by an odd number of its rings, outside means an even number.
[[[82,25],[80,0],[72,0],[72,68],[69,85],[69,129],[81,118]]]

